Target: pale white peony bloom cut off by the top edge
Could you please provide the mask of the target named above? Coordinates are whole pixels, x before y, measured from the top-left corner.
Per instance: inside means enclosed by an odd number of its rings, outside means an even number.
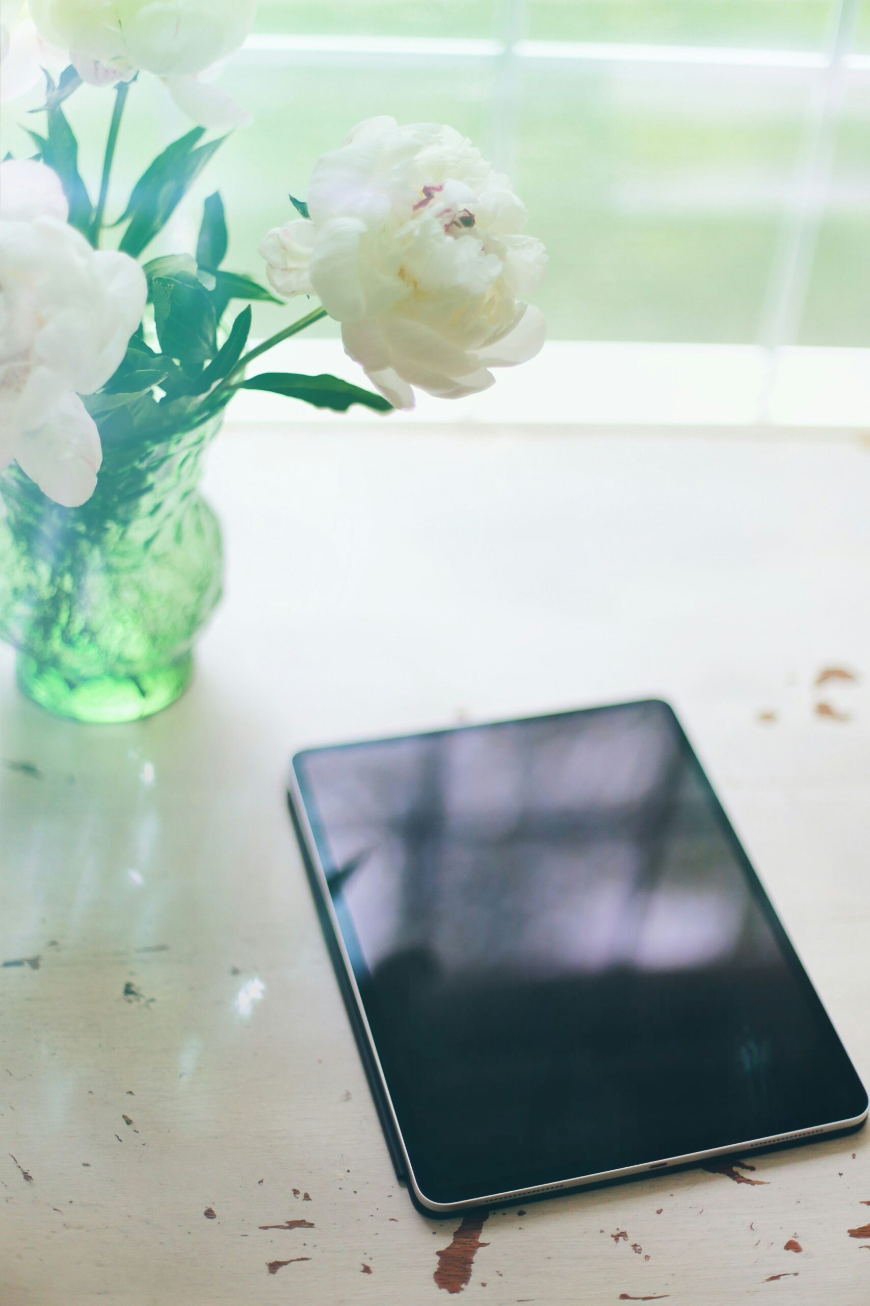
[[[239,50],[257,0],[30,0],[30,8],[43,37],[69,50],[82,81],[107,86],[151,72],[203,127],[249,120],[207,73]]]

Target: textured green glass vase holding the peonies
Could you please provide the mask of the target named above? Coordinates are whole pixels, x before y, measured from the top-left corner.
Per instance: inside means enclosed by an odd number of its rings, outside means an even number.
[[[200,495],[220,414],[159,438],[103,439],[97,490],[61,508],[13,464],[0,475],[0,637],[18,684],[76,721],[136,721],[190,682],[220,598],[220,528]]]

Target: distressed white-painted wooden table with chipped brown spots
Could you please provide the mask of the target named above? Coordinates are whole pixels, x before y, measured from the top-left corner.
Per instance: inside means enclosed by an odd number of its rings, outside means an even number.
[[[305,743],[668,696],[870,1077],[866,445],[273,424],[207,488],[181,703],[64,724],[0,654],[3,1306],[449,1299],[286,816]],[[870,1132],[753,1164],[493,1212],[463,1299],[870,1301]]]

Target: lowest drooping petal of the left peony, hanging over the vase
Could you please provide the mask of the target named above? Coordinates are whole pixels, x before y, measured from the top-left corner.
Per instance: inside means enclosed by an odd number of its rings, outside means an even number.
[[[68,390],[48,418],[22,431],[16,441],[18,466],[64,508],[78,508],[97,487],[103,461],[97,423]]]

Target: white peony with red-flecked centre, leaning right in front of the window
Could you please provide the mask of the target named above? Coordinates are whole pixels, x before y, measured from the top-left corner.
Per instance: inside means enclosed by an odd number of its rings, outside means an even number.
[[[505,176],[450,127],[356,127],[312,175],[309,218],[260,247],[286,296],[316,294],[351,358],[398,407],[416,385],[453,398],[493,384],[490,367],[532,358],[544,317],[523,302],[547,255],[522,235]]]

